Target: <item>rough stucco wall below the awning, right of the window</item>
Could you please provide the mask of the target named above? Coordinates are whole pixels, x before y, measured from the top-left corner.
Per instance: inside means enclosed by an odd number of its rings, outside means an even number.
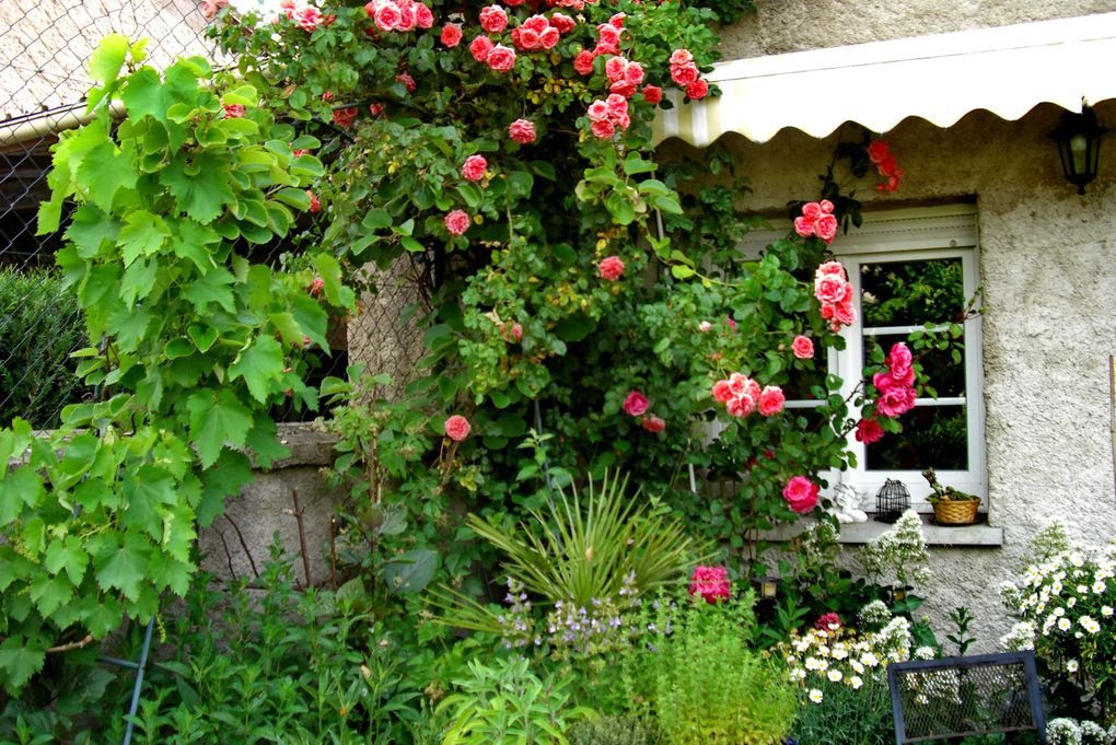
[[[1096,107],[1116,128],[1116,101]],[[925,606],[939,621],[954,607],[977,618],[982,647],[1008,622],[999,584],[1014,575],[1028,541],[1055,517],[1077,536],[1116,535],[1109,438],[1108,356],[1116,354],[1116,136],[1101,147],[1100,175],[1085,196],[1065,181],[1049,133],[1061,109],[1041,105],[1019,122],[974,112],[950,129],[906,119],[886,139],[906,178],[866,209],[975,196],[984,287],[984,404],[990,523],[999,549],[934,549]],[[850,132],[855,132],[850,129]],[[810,195],[835,136],[788,129],[764,145],[722,138],[752,177],[743,209],[783,210]],[[695,151],[670,141],[661,153]],[[866,188],[865,188],[866,187]],[[870,196],[868,196],[870,194]]]

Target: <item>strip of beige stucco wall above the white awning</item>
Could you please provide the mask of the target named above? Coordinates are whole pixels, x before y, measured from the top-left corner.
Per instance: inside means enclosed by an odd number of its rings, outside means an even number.
[[[756,4],[758,12],[723,30],[724,59],[1116,10],[1114,0],[758,0]]]

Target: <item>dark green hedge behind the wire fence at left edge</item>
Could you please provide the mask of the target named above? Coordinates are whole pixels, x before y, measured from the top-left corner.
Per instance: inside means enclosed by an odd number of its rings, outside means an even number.
[[[56,272],[0,268],[0,425],[17,416],[57,425],[61,407],[86,390],[69,359],[85,342],[77,299]]]

